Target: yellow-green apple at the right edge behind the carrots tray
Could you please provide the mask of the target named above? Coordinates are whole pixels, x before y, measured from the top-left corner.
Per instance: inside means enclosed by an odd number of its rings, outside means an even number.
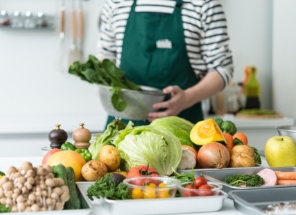
[[[296,166],[296,142],[289,136],[269,138],[264,154],[270,167]]]

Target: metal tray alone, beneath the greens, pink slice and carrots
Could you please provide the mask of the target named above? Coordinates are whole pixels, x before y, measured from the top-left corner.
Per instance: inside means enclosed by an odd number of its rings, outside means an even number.
[[[275,186],[260,186],[260,187],[235,187],[227,184],[225,179],[227,176],[231,176],[234,174],[255,174],[260,170],[265,169],[266,167],[249,167],[249,168],[227,168],[217,170],[205,170],[200,171],[201,174],[205,176],[205,178],[209,181],[216,182],[223,185],[222,190],[225,192],[229,192],[231,190],[250,190],[250,189],[270,189],[270,188],[280,188],[280,187],[293,187],[295,185],[275,185]],[[275,167],[269,168],[274,171],[283,171],[283,172],[296,172],[296,167]]]

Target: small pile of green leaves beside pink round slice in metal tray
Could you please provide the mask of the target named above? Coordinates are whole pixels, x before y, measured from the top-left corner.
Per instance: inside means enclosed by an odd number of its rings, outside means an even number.
[[[264,179],[257,174],[235,174],[228,176],[225,182],[235,187],[258,187],[264,184]]]

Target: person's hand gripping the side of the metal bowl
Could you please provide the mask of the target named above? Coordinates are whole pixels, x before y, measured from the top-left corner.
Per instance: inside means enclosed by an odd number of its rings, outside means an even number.
[[[188,101],[190,101],[189,94],[178,86],[168,86],[163,89],[163,93],[171,94],[171,98],[164,102],[155,103],[153,108],[165,109],[160,112],[150,112],[148,120],[152,120],[165,116],[177,116],[181,111],[188,108]]]

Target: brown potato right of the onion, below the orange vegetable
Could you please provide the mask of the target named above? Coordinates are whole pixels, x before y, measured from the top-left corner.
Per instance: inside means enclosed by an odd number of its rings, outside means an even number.
[[[254,150],[248,145],[236,145],[231,150],[230,167],[253,167],[255,163]]]

